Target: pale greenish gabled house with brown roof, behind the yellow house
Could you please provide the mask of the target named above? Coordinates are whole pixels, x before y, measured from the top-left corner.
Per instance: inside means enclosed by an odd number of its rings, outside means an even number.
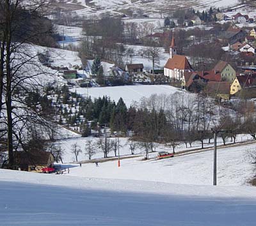
[[[219,61],[212,70],[215,73],[220,73],[221,81],[233,82],[236,78],[236,71],[225,61]]]

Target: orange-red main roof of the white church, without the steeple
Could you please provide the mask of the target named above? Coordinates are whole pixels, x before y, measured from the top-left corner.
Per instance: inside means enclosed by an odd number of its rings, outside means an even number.
[[[172,59],[168,59],[164,68],[179,69],[179,70],[191,70],[192,67],[186,56],[175,55]]]

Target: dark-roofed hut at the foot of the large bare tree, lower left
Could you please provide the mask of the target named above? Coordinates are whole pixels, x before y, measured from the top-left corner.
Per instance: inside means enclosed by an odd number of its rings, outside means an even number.
[[[54,163],[54,156],[49,151],[15,151],[13,159],[17,169],[29,172],[42,172]]]

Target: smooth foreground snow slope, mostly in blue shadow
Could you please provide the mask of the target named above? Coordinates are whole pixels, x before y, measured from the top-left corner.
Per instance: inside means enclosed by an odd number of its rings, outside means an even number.
[[[253,187],[172,185],[0,170],[1,226],[254,226]]]

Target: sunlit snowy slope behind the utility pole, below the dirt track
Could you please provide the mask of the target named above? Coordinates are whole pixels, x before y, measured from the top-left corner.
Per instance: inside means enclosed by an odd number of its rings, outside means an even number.
[[[247,151],[255,149],[255,147],[256,144],[254,143],[247,146],[218,148],[218,185],[248,185],[248,179],[251,179],[254,175],[255,165],[248,159]],[[121,154],[125,151],[122,148],[120,150],[122,150]],[[136,153],[140,153],[140,151],[137,150]],[[170,149],[166,149],[166,151],[170,151]],[[156,160],[156,154],[150,153],[150,160],[147,161],[141,161],[143,156],[121,160],[120,169],[117,168],[117,160],[100,162],[100,167],[95,167],[94,163],[86,163],[82,167],[70,169],[68,175],[188,185],[212,185],[212,150],[174,156],[166,160]],[[77,165],[74,164],[74,166]]]

